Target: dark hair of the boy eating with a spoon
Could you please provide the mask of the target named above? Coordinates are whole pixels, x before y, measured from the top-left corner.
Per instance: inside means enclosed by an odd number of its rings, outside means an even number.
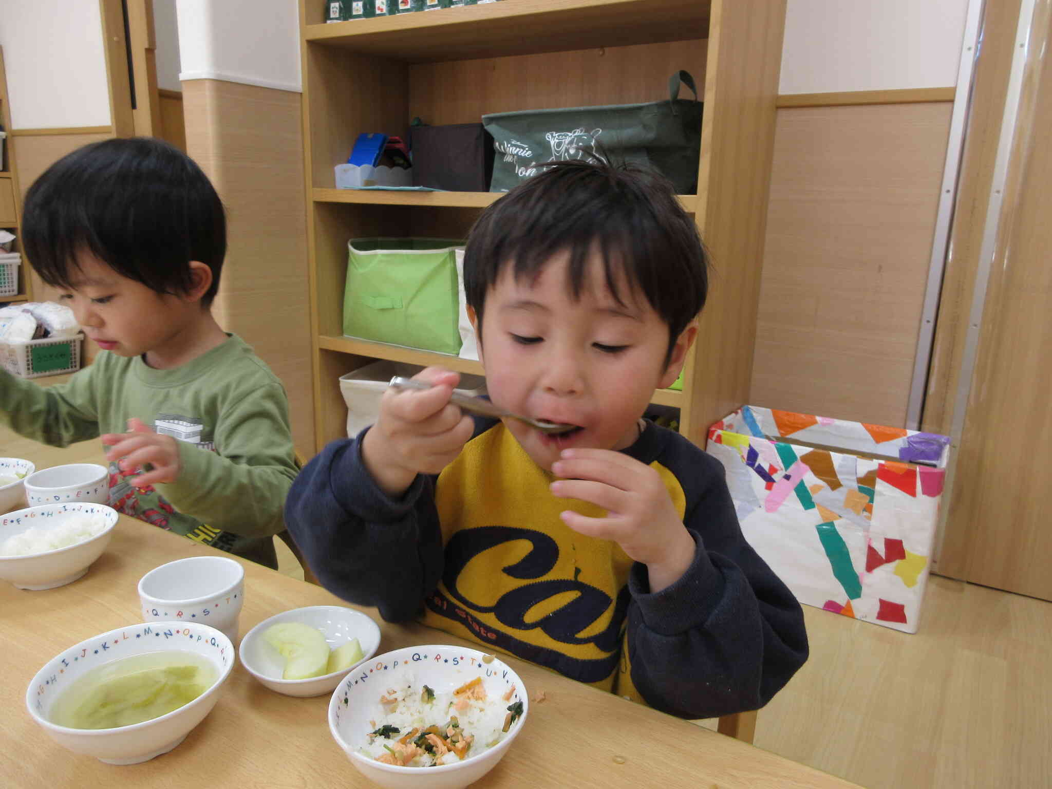
[[[620,272],[668,324],[671,353],[705,305],[710,265],[672,184],[652,170],[598,158],[544,166],[486,208],[468,237],[464,290],[480,339],[487,290],[506,266],[517,280],[531,280],[553,255],[568,251],[568,285],[579,299],[588,258],[598,250],[613,298],[624,305]]]

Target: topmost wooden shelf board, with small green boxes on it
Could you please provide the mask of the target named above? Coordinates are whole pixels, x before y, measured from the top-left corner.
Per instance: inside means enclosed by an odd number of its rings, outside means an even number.
[[[706,0],[505,0],[308,24],[306,42],[409,63],[706,38]]]

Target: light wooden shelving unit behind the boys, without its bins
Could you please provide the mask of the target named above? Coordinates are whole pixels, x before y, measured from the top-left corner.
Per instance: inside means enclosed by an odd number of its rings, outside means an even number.
[[[748,399],[763,257],[784,0],[504,0],[325,24],[301,0],[303,128],[316,433],[344,431],[338,379],[378,359],[481,373],[478,362],[343,337],[347,241],[464,238],[500,195],[337,189],[332,167],[362,132],[410,119],[660,99],[686,68],[704,95],[696,195],[680,197],[715,261],[684,390],[654,392],[704,444]],[[702,87],[704,85],[704,87]]]

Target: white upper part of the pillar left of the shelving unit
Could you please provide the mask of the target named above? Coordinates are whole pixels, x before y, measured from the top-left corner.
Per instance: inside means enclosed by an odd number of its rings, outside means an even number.
[[[176,7],[180,79],[217,79],[301,90],[297,3],[176,0]]]

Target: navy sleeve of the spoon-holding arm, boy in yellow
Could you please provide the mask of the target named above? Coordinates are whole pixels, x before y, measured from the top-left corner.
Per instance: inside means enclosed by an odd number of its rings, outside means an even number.
[[[434,478],[418,474],[391,499],[362,462],[364,436],[333,441],[303,468],[288,492],[285,525],[322,586],[402,622],[442,575]]]

